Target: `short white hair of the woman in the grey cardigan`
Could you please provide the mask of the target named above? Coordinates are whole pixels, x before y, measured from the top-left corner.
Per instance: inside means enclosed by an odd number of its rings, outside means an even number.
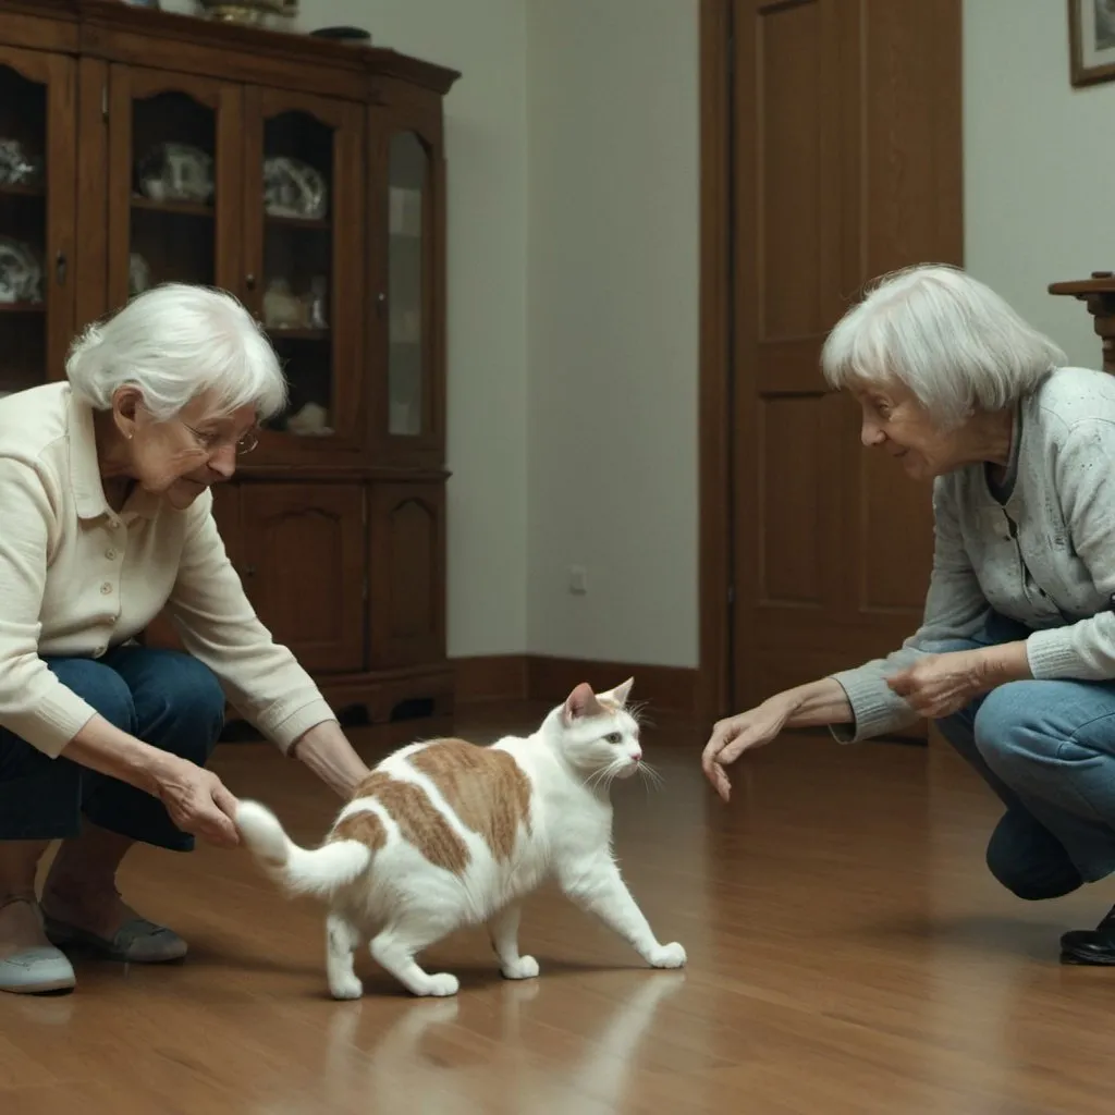
[[[959,268],[919,264],[882,277],[825,340],[833,388],[900,382],[943,429],[1001,410],[1066,362],[1064,351]]]

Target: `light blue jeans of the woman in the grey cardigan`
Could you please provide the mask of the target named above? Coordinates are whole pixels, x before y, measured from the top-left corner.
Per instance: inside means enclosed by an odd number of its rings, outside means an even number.
[[[944,652],[1025,639],[992,613]],[[938,721],[1006,806],[987,847],[991,874],[1022,899],[1059,898],[1115,871],[1115,682],[1012,681]]]

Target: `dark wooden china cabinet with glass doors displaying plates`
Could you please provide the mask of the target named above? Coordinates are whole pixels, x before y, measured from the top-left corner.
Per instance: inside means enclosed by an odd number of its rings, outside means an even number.
[[[443,98],[458,76],[118,0],[0,0],[0,390],[64,376],[75,332],[149,285],[240,298],[290,406],[216,492],[230,555],[338,711],[423,731],[453,700]],[[164,618],[147,638],[176,641]]]

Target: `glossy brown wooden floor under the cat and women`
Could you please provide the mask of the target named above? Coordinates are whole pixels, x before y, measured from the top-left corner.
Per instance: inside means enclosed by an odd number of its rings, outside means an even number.
[[[491,718],[460,725],[492,738]],[[525,721],[524,721],[525,723]],[[240,853],[140,850],[123,883],[187,937],[182,966],[78,963],[76,993],[0,996],[4,1115],[1075,1115],[1115,1109],[1115,971],[1063,968],[1057,935],[1115,886],[1028,905],[987,875],[996,809],[950,755],[787,740],[706,791],[704,725],[647,736],[666,776],[621,785],[617,845],[682,972],[540,896],[530,983],[483,931],[436,948],[455,1000],[408,998],[363,963],[333,1002],[309,903]],[[229,745],[231,788],[320,835],[333,808],[265,745]]]

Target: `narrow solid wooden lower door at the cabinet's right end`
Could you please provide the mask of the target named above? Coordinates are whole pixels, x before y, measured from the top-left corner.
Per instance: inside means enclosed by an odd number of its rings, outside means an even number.
[[[444,659],[445,485],[374,485],[368,532],[372,668]]]

